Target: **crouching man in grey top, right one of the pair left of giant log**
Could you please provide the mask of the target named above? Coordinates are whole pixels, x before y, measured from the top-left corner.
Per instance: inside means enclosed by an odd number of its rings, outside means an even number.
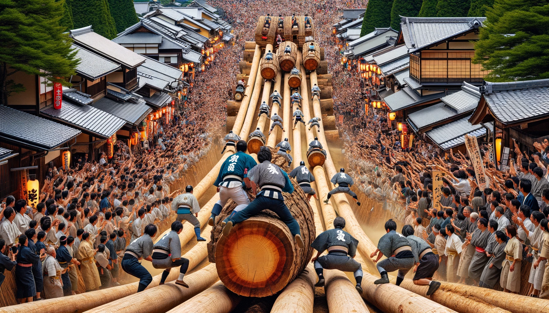
[[[181,257],[181,242],[178,235],[181,234],[182,230],[183,224],[178,220],[173,221],[171,231],[162,236],[162,238],[154,244],[152,262],[155,269],[165,269],[162,272],[160,284],[166,282],[166,278],[170,274],[172,268],[181,266],[179,269],[179,277],[175,283],[185,288],[189,288],[189,285],[183,281],[183,277],[189,268],[189,260]]]

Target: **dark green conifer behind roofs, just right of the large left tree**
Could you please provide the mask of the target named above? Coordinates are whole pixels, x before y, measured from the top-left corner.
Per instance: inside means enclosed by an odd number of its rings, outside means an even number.
[[[72,1],[72,22],[79,29],[92,25],[94,32],[113,39],[118,33],[107,0]]]

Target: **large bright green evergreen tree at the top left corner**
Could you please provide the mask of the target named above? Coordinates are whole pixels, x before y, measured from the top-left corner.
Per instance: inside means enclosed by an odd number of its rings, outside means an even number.
[[[10,78],[16,72],[67,85],[63,77],[76,74],[76,52],[71,50],[71,39],[59,24],[63,4],[55,0],[0,2],[0,104],[7,104],[11,93],[25,90]]]

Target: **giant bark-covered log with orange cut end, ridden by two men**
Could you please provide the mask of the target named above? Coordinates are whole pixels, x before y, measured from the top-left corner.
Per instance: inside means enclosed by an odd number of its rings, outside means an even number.
[[[286,160],[273,155],[272,162],[282,169]],[[311,243],[315,240],[313,211],[297,181],[292,178],[290,181],[294,192],[283,192],[284,202],[299,224],[304,248],[295,245],[286,224],[268,208],[235,225],[228,236],[221,235],[221,221],[236,203],[229,200],[216,218],[208,248],[209,259],[215,261],[217,274],[232,292],[247,297],[275,294],[292,282],[311,260],[314,251]]]

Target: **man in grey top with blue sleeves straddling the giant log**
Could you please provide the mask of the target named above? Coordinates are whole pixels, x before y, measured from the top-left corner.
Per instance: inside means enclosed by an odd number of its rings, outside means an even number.
[[[284,197],[282,196],[283,191],[292,194],[294,186],[290,182],[288,174],[276,164],[272,164],[271,160],[271,149],[262,146],[257,153],[257,161],[260,163],[248,172],[250,181],[258,185],[261,191],[247,207],[221,223],[224,226],[223,236],[228,236],[234,225],[257,215],[257,213],[264,209],[270,209],[288,226],[298,247],[303,248],[305,247],[305,243],[301,238],[299,224],[284,203]],[[252,189],[252,192],[255,193],[255,190]]]

